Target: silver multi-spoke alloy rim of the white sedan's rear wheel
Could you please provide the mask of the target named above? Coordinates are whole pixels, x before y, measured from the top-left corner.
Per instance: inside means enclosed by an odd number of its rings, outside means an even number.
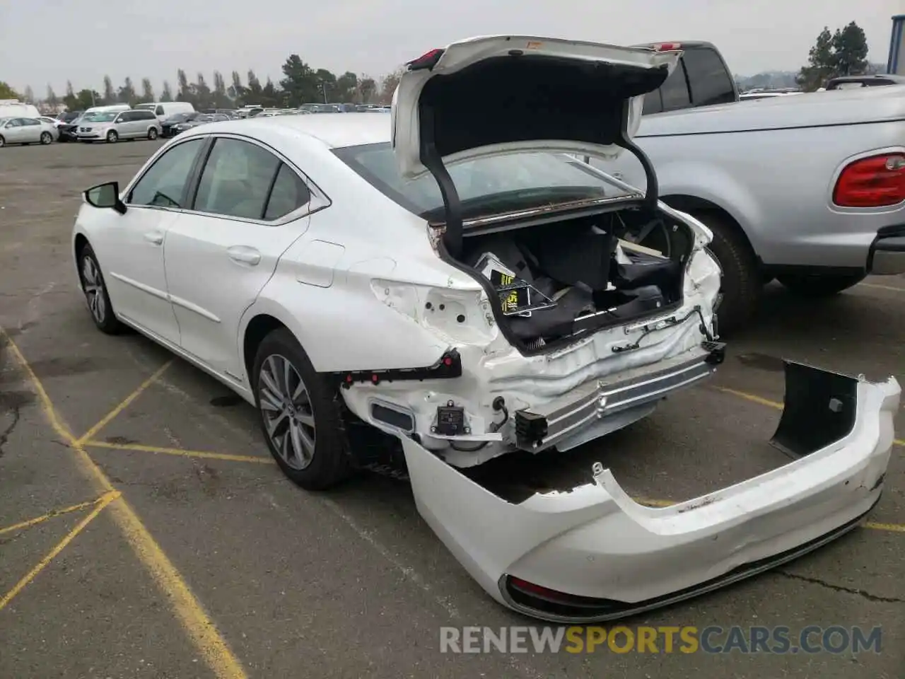
[[[289,359],[273,354],[258,376],[258,402],[273,449],[292,469],[314,459],[315,426],[308,387]]]

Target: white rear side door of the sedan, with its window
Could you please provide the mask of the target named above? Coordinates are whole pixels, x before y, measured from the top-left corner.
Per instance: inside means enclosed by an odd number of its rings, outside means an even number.
[[[319,203],[320,201],[320,203]],[[226,378],[244,374],[239,320],[277,261],[308,228],[312,194],[300,172],[247,139],[214,139],[194,204],[167,234],[167,284],[184,350]]]

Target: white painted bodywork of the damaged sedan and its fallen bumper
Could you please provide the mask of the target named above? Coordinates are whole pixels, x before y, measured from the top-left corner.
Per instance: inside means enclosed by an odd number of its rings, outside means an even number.
[[[612,55],[609,48],[602,50]],[[808,540],[828,540],[872,506],[889,461],[892,414],[900,397],[892,378],[880,385],[857,383],[853,427],[837,440],[676,508],[635,504],[602,468],[595,468],[595,483],[523,502],[503,501],[469,481],[456,466],[480,464],[512,449],[511,423],[500,431],[491,427],[499,421],[491,407],[494,397],[505,397],[513,413],[555,412],[580,401],[580,423],[557,443],[567,450],[649,415],[659,392],[652,397],[645,391],[633,404],[633,389],[648,389],[652,381],[659,385],[656,380],[664,375],[673,380],[670,388],[684,386],[683,366],[704,365],[701,340],[712,327],[719,269],[705,249],[710,232],[661,205],[663,214],[694,234],[681,308],[671,313],[691,317],[697,308],[700,324],[664,325],[654,318],[598,330],[546,354],[524,355],[492,322],[481,284],[438,256],[425,218],[376,190],[334,153],[387,144],[390,120],[364,113],[280,116],[188,130],[160,148],[120,193],[124,214],[87,203],[81,207],[73,248],[90,243],[119,320],[252,404],[243,343],[252,320],[263,315],[290,330],[322,374],[428,367],[456,349],[461,378],[356,382],[337,391],[352,413],[402,442],[419,512],[452,554],[492,597],[529,615],[557,618],[514,601],[500,587],[504,577],[558,588],[571,597],[615,598],[623,608],[653,607],[659,605],[653,597],[719,586],[708,583],[729,578],[731,569],[752,559],[775,563],[786,550],[805,549]],[[406,145],[417,140],[414,119],[395,115],[394,120],[398,139],[405,140],[397,152],[412,170],[417,163],[413,147]],[[138,178],[157,171],[158,159],[185,152],[181,162],[188,163],[194,155],[187,145],[210,139],[240,139],[268,149],[304,181],[310,201],[271,222],[179,206],[129,205]],[[579,152],[585,150],[612,151]],[[172,167],[159,171],[165,177],[179,174]],[[178,188],[171,193],[171,200],[181,199]],[[656,330],[646,333],[645,325]],[[648,336],[636,350],[613,350]],[[686,381],[703,376],[695,373]],[[433,435],[436,407],[447,399],[465,408],[472,434]],[[370,410],[376,402],[411,413],[414,431],[376,420]],[[843,412],[852,407],[840,406]],[[489,445],[481,453],[456,454],[452,438]]]

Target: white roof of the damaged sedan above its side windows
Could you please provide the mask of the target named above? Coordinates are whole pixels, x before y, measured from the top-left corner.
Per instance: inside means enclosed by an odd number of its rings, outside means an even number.
[[[204,130],[203,132],[201,130]],[[379,144],[390,140],[390,114],[385,113],[317,113],[270,118],[224,120],[199,128],[198,134],[233,132],[234,134],[304,134],[329,148],[360,144]]]

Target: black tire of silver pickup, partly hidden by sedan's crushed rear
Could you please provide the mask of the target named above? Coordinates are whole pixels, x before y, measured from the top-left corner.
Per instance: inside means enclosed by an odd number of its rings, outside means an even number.
[[[717,311],[719,333],[742,330],[757,314],[764,278],[748,240],[729,218],[716,212],[691,213],[713,232],[708,249],[723,271]]]

